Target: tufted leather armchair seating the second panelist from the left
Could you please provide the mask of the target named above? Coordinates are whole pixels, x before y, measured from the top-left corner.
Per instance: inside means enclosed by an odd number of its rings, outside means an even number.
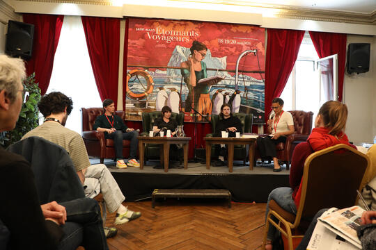
[[[153,111],[142,113],[142,131],[141,136],[149,136],[149,131],[152,131],[152,125],[156,118],[161,116],[161,111]],[[184,113],[171,113],[171,118],[178,122],[178,125],[184,123]],[[173,132],[173,131],[171,131]],[[159,159],[159,144],[146,144],[145,146],[145,161],[148,159]]]

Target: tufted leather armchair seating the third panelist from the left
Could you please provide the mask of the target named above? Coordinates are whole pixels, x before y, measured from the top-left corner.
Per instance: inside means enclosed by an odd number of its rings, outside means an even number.
[[[242,122],[243,133],[252,133],[252,114],[233,113],[233,116],[239,118],[240,122]],[[221,119],[220,115],[212,115],[210,120],[212,123],[212,133],[207,134],[206,137],[213,137],[219,119]],[[212,156],[217,157],[215,147],[212,147]],[[246,149],[246,145],[234,145],[234,160],[243,160],[245,165],[248,160],[248,150]]]

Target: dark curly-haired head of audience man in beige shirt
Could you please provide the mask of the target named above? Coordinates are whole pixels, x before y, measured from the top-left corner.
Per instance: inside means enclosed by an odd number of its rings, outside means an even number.
[[[44,117],[64,113],[66,108],[68,116],[72,112],[73,101],[70,97],[67,97],[61,92],[51,92],[45,94],[42,99],[40,99],[38,108]]]

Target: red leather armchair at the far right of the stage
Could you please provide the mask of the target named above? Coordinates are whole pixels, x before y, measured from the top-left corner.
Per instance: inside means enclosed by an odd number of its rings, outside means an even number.
[[[283,161],[283,163],[286,163],[286,169],[290,169],[292,152],[294,151],[295,146],[300,142],[305,142],[308,139],[308,136],[312,130],[313,119],[313,113],[311,111],[305,112],[302,110],[292,110],[288,112],[291,113],[292,118],[294,119],[295,133],[288,135],[285,143],[280,142],[276,145],[277,158]],[[260,154],[258,153],[256,147],[255,158],[259,157]]]

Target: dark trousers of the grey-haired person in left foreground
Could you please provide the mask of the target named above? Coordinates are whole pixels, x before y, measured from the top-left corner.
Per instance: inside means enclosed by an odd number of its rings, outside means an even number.
[[[67,211],[67,222],[61,226],[64,237],[58,250],[77,249],[80,245],[86,250],[109,249],[97,201],[81,198],[62,202],[60,205]]]

